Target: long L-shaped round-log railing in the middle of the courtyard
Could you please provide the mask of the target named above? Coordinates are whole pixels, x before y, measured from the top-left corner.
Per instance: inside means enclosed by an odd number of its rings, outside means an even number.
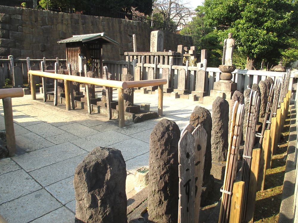
[[[65,70],[66,73],[68,70]],[[70,92],[69,90],[69,81],[76,81],[84,84],[94,84],[98,86],[105,87],[114,87],[118,89],[118,109],[119,109],[119,127],[125,126],[124,120],[124,98],[123,93],[124,89],[132,87],[148,87],[148,86],[157,86],[158,85],[158,114],[162,116],[162,101],[163,101],[163,85],[167,83],[166,79],[156,79],[156,80],[143,80],[143,81],[113,81],[113,80],[104,80],[99,78],[90,78],[90,77],[81,77],[81,76],[72,76],[65,74],[56,74],[54,70],[50,72],[42,72],[39,70],[30,70],[30,84],[31,84],[31,95],[32,100],[36,100],[36,91],[35,91],[35,76],[42,76],[54,79],[64,80],[65,87],[65,100],[66,100],[66,110],[70,110]]]

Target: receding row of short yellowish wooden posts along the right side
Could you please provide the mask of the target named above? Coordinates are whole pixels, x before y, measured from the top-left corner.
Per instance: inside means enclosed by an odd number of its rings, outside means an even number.
[[[243,181],[235,182],[232,189],[231,209],[229,212],[229,223],[253,222],[254,205],[257,191],[264,190],[266,169],[271,168],[272,156],[276,152],[279,136],[283,129],[285,119],[288,115],[291,91],[289,90],[282,98],[280,108],[277,109],[276,117],[271,118],[270,129],[264,131],[262,148],[252,150],[252,164],[249,181],[248,200],[244,201]],[[246,210],[243,209],[243,202],[247,203]],[[244,213],[244,219],[241,215]],[[220,222],[220,221],[219,221]]]

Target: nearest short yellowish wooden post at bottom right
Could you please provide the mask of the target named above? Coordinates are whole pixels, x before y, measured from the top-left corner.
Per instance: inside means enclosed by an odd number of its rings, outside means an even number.
[[[231,212],[229,223],[240,223],[243,209],[244,181],[238,181],[233,185]]]

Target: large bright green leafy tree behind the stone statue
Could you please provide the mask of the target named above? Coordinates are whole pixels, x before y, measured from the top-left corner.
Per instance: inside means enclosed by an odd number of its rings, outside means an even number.
[[[221,42],[233,33],[247,69],[298,59],[296,0],[205,0],[204,8],[205,25],[218,30]]]

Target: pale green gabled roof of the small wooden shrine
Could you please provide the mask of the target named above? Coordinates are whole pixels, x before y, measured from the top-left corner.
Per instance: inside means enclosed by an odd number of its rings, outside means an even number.
[[[60,40],[57,43],[73,43],[73,42],[89,42],[92,40],[101,39],[103,44],[119,44],[115,40],[112,40],[111,38],[107,37],[104,32],[102,33],[93,33],[93,34],[84,34],[84,35],[73,35],[70,38],[67,38],[65,40]]]

